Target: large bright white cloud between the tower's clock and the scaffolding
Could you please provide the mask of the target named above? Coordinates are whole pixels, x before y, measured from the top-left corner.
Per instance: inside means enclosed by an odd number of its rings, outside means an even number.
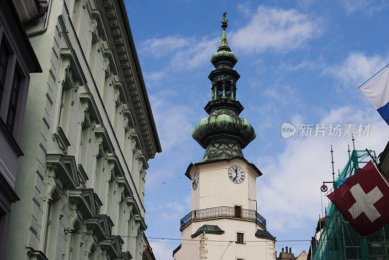
[[[301,121],[297,116],[292,121]],[[369,137],[356,138],[356,149],[366,148],[381,152],[389,139],[388,125],[372,108],[362,111],[355,107],[341,107],[330,111],[322,123],[370,123]],[[323,181],[332,180],[330,146],[334,147],[335,169],[342,169],[348,160],[349,137],[294,136],[286,139],[286,148],[274,158],[259,158],[264,175],[257,179],[259,213],[267,220],[273,235],[291,233],[292,230],[312,230],[322,214],[320,189]],[[265,162],[265,163],[264,163]],[[321,194],[321,193],[320,193]],[[323,207],[328,200],[323,197]]]

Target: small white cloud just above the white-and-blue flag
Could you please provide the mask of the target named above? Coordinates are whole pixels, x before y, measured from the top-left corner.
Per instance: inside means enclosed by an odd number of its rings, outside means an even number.
[[[332,74],[344,86],[357,88],[386,64],[382,56],[367,56],[361,52],[353,52],[342,63],[325,69],[323,74]]]

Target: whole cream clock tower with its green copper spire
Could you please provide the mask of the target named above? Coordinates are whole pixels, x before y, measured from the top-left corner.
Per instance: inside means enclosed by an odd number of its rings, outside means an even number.
[[[227,42],[226,14],[220,47],[211,57],[215,70],[211,101],[192,137],[205,149],[203,159],[190,164],[185,175],[192,182],[191,212],[180,221],[182,243],[175,260],[275,260],[275,238],[257,212],[256,179],[261,171],[243,156],[256,133],[236,98],[240,75],[233,70],[238,58]]]

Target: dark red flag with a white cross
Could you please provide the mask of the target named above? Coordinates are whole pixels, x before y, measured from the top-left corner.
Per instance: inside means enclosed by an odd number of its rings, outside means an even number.
[[[361,236],[389,223],[389,186],[371,161],[327,197]]]

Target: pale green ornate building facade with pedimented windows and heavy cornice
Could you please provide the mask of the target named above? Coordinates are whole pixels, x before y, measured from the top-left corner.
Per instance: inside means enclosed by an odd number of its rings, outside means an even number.
[[[141,260],[161,148],[124,1],[40,3],[5,258]]]

